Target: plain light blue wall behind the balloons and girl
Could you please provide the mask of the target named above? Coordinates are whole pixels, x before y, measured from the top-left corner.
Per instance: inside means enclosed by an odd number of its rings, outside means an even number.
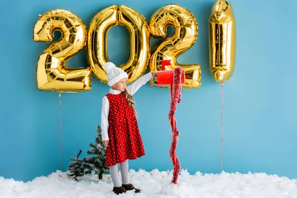
[[[60,169],[59,97],[36,87],[36,64],[49,45],[35,43],[38,14],[71,10],[88,26],[110,4],[125,4],[149,21],[163,5],[179,3],[198,21],[198,40],[178,62],[199,63],[201,87],[183,90],[177,121],[181,135],[177,155],[191,174],[219,173],[221,153],[221,85],[209,72],[208,17],[215,0],[10,0],[0,13],[1,100],[0,176],[28,181]],[[296,6],[293,0],[231,1],[237,25],[236,69],[224,86],[224,171],[266,172],[297,178]],[[291,21],[290,21],[291,20]],[[172,32],[172,30],[171,30]],[[55,40],[59,34],[55,32]],[[151,47],[162,39],[152,39]],[[120,44],[117,44],[120,43]],[[129,34],[120,26],[108,34],[108,55],[119,65],[128,57]],[[114,50],[117,49],[117,50]],[[87,66],[86,50],[67,62]],[[79,149],[83,156],[100,124],[101,99],[108,86],[92,78],[86,93],[62,94],[63,171]],[[169,90],[143,86],[135,94],[146,155],[130,168],[172,169],[168,157]]]

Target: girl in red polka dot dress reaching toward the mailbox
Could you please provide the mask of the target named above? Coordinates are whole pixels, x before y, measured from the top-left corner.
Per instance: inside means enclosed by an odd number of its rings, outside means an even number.
[[[106,166],[109,166],[114,186],[112,191],[117,195],[130,190],[140,193],[139,189],[128,182],[128,159],[145,155],[132,95],[157,74],[152,71],[126,87],[128,79],[126,72],[111,62],[106,62],[104,69],[111,89],[102,99],[101,129],[102,143],[107,147]],[[122,185],[118,177],[118,164],[120,164]]]

